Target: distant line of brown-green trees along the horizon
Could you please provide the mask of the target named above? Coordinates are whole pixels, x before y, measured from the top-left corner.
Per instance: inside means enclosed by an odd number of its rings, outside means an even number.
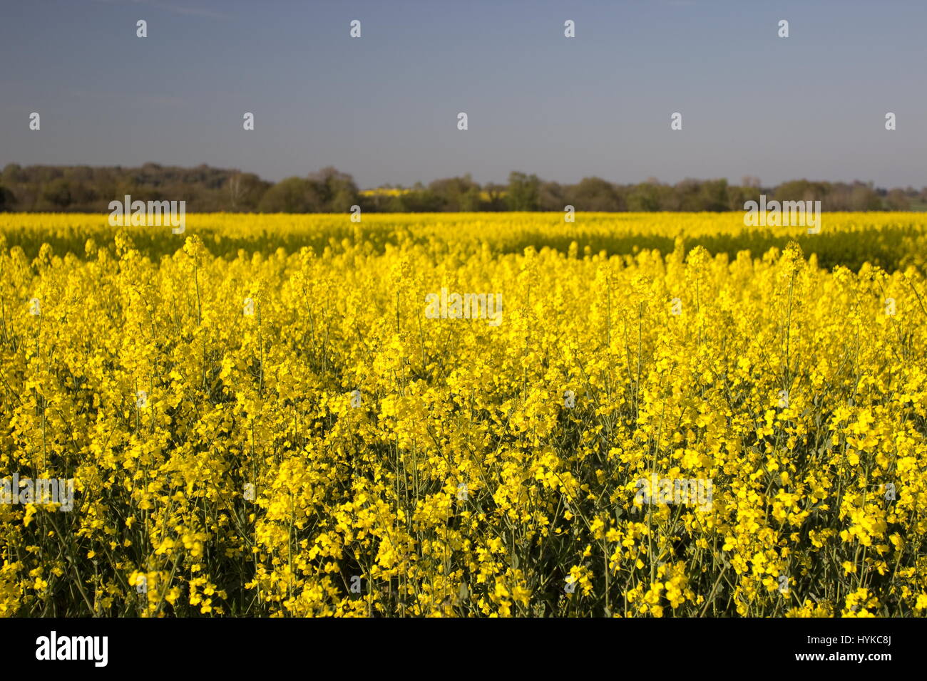
[[[184,200],[191,212],[348,212],[351,206],[373,212],[563,210],[565,206],[576,210],[720,211],[743,210],[745,201],[761,194],[769,200],[819,200],[823,210],[927,209],[927,187],[886,190],[872,183],[807,180],[763,187],[754,177],[744,177],[739,185],[727,180],[667,184],[653,178],[616,184],[599,177],[562,184],[513,171],[505,184],[479,184],[464,175],[427,185],[361,191],[349,174],[334,168],[278,183],[239,170],[155,163],[141,168],[10,163],[0,174],[0,210],[101,212],[108,211],[110,201],[127,194],[133,200]]]

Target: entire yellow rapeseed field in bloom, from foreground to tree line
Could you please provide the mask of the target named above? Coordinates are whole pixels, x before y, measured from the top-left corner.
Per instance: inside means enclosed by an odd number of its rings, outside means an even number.
[[[800,232],[0,216],[0,615],[922,615],[927,225]]]

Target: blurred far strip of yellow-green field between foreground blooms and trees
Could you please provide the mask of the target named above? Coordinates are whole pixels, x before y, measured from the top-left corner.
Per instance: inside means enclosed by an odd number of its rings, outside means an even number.
[[[508,213],[380,213],[364,214],[351,222],[349,214],[232,214],[191,213],[186,233],[196,233],[214,256],[234,258],[239,250],[286,253],[310,246],[316,252],[343,250],[363,243],[376,253],[387,245],[488,246],[497,253],[520,253],[528,246],[549,247],[564,253],[634,255],[641,250],[671,253],[678,239],[686,252],[705,246],[709,253],[740,251],[759,258],[770,248],[789,242],[815,255],[820,267],[843,265],[858,271],[869,262],[887,271],[927,262],[927,213],[835,212],[821,214],[820,233],[805,227],[746,227],[742,212],[719,213],[577,213],[565,222],[559,212]],[[58,255],[83,256],[88,240],[111,246],[123,230],[135,248],[151,259],[171,255],[183,245],[184,235],[169,227],[111,227],[107,214],[3,213],[0,235],[6,247],[19,246],[34,258],[43,244]]]

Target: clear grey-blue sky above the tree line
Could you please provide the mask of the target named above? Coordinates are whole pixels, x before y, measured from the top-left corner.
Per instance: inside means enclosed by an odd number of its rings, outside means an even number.
[[[921,187],[925,32],[923,0],[0,0],[0,166]]]

